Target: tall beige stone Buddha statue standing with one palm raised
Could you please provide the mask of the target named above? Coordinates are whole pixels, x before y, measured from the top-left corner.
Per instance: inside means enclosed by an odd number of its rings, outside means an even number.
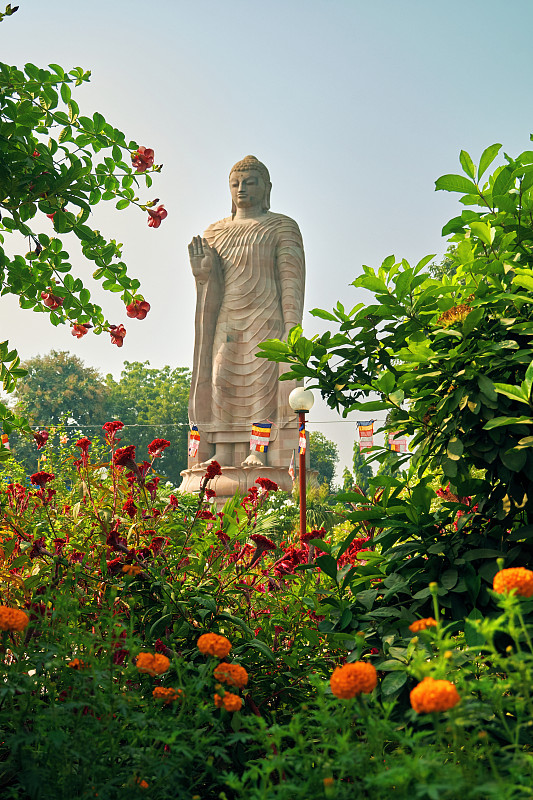
[[[189,245],[197,289],[189,403],[201,434],[195,461],[286,470],[297,443],[288,405],[294,383],[279,382],[283,367],[256,353],[260,342],[284,339],[302,321],[302,237],[293,219],[270,211],[272,184],[257,158],[235,164],[229,184],[231,216]],[[250,453],[251,427],[261,421],[274,423],[268,453]]]

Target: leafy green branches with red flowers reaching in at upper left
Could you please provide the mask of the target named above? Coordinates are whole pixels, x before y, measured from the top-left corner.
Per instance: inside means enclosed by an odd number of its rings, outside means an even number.
[[[0,22],[14,10],[6,9]],[[58,64],[48,69],[26,64],[22,71],[0,62],[0,283],[2,294],[15,294],[22,308],[48,314],[52,325],[71,324],[78,336],[89,328],[107,331],[111,342],[121,345],[124,326],[108,322],[73,275],[66,235],[74,234],[70,244],[79,240],[104,289],[119,292],[126,305],[137,304],[143,299],[137,294],[140,283],[128,277],[122,246],[86,223],[100,200],[116,201],[119,210],[139,206],[153,227],[166,211],[153,210],[155,201],[142,205],[136,196],[141,177],[147,187],[152,183],[149,174],[140,173],[159,170],[153,151],[128,142],[98,112],[80,112],[72,89],[89,77],[81,67],[66,72]],[[13,238],[9,252],[2,246],[6,235]],[[1,342],[4,391],[12,392],[23,375],[16,348]],[[18,428],[30,435],[25,420],[5,404],[0,424],[8,434]],[[0,446],[0,458],[8,455]]]

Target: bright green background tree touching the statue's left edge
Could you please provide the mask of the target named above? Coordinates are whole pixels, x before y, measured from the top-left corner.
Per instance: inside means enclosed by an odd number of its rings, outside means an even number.
[[[148,458],[147,446],[153,439],[167,439],[171,447],[164,451],[156,469],[175,484],[187,467],[190,383],[190,371],[185,367],[155,369],[148,361],[125,361],[119,381],[112,375],[106,377],[107,416],[126,425],[121,444],[136,445],[140,461]]]

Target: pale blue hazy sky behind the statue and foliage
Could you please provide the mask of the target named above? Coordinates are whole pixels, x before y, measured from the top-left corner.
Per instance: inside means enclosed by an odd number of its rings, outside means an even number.
[[[442,226],[461,207],[434,181],[459,171],[461,149],[476,161],[494,142],[513,155],[530,148],[531,0],[19,4],[0,25],[0,58],[92,70],[74,95],[80,113],[100,111],[155,150],[164,169],[141,199],[159,197],[168,210],[154,230],[138,209],[95,209],[94,226],[124,243],[152,305],[143,322],[128,320],[117,296],[94,292],[110,321],[126,324],[124,347],[107,334],[78,341],[1,298],[0,340],[23,358],[70,350],[116,376],[124,360],[190,366],[187,244],[229,214],[228,172],[244,155],[268,166],[272,210],[300,225],[312,335],[325,323],[310,309],[363,298],[349,285],[362,264],[442,255]],[[44,215],[39,223],[50,228]],[[74,263],[92,290],[92,262]],[[310,415],[328,420],[316,428],[339,445],[342,471],[354,427],[335,419],[320,402]]]

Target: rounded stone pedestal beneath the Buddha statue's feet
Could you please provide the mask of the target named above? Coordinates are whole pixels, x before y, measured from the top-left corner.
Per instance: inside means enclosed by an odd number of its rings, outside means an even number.
[[[293,481],[289,473],[283,467],[266,467],[264,464],[254,464],[240,467],[221,467],[222,475],[217,475],[208,483],[208,488],[216,493],[217,508],[221,509],[226,500],[233,497],[238,492],[242,497],[248,494],[248,490],[254,485],[257,478],[268,478],[277,483],[284,492],[292,492]],[[183,481],[179,487],[181,494],[189,492],[197,494],[200,491],[200,483],[205,475],[205,467],[197,464],[190,469],[181,472]]]

